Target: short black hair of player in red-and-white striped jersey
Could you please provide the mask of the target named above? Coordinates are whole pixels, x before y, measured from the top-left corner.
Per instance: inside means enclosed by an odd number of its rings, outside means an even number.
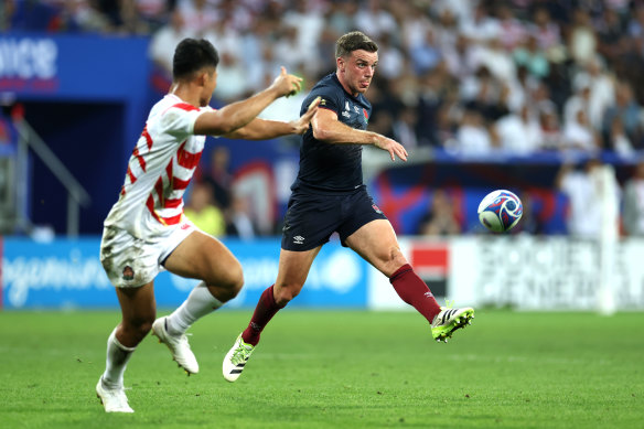
[[[219,54],[211,42],[205,39],[184,39],[174,50],[172,60],[172,77],[174,81],[190,77],[204,67],[216,67]]]

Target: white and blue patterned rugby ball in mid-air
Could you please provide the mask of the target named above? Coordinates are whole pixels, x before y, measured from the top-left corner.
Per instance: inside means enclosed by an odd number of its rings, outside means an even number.
[[[479,221],[493,233],[505,233],[514,228],[522,215],[520,200],[506,190],[489,193],[479,204]]]

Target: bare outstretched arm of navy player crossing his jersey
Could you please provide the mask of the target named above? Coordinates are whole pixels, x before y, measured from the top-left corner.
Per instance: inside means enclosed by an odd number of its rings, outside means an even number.
[[[396,157],[407,161],[408,153],[402,144],[377,132],[351,128],[337,120],[337,115],[333,110],[320,109],[311,125],[316,140],[333,144],[373,144],[389,152],[391,161],[395,161]]]

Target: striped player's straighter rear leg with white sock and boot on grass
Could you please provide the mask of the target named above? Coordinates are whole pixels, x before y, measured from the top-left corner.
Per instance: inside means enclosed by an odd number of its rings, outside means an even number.
[[[135,412],[124,390],[124,374],[137,345],[150,332],[154,320],[153,283],[140,288],[116,289],[122,321],[107,340],[105,372],[96,385],[96,395],[107,412]]]

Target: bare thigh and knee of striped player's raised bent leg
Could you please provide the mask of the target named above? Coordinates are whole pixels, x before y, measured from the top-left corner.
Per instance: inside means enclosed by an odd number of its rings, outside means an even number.
[[[242,266],[233,253],[218,239],[192,232],[168,256],[165,269],[181,277],[200,279],[207,286],[237,283]]]

